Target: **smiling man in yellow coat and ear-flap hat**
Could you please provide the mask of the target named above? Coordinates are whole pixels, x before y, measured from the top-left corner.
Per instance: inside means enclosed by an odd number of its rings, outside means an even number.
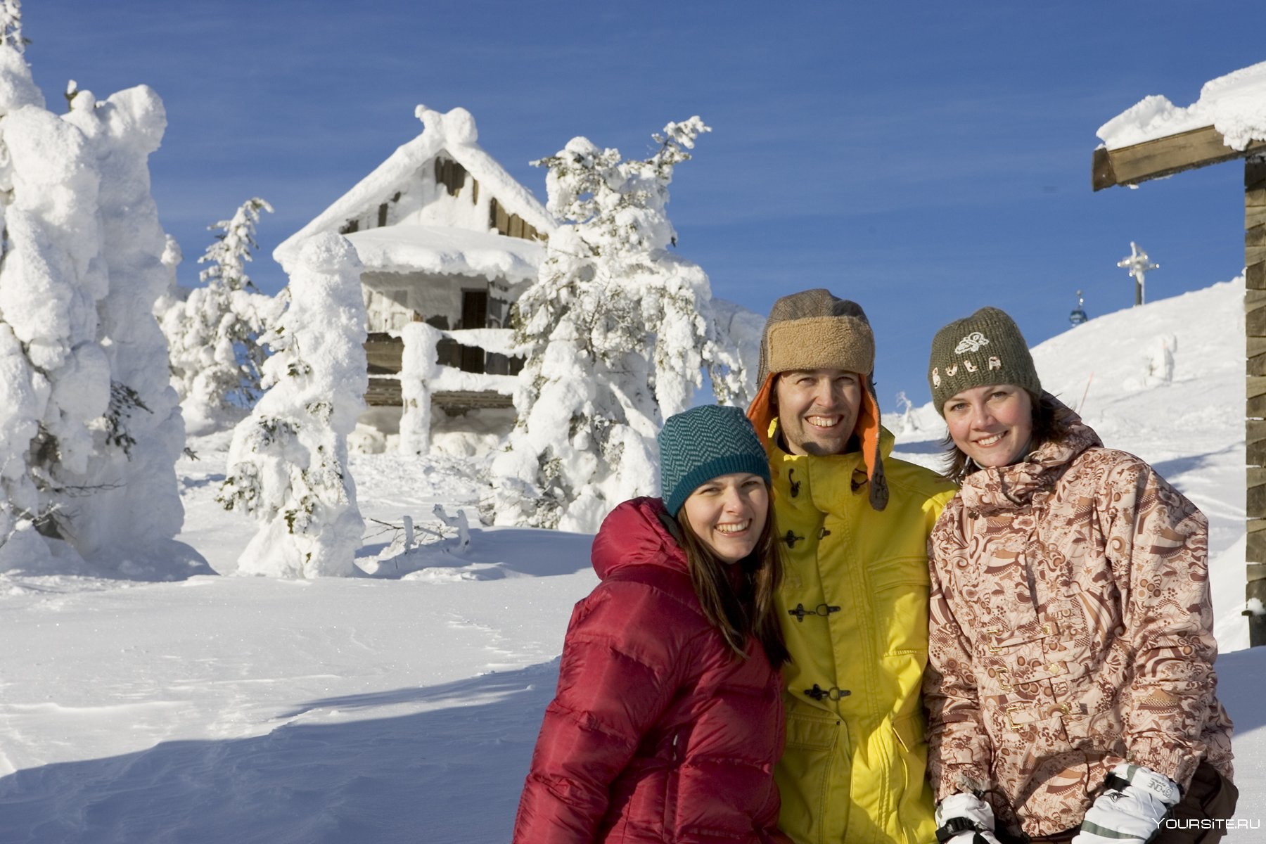
[[[774,304],[748,416],[785,543],[779,615],[793,662],[776,779],[779,825],[796,844],[936,840],[919,700],[927,539],[955,491],[890,457],[874,369],[856,302],[808,290]]]

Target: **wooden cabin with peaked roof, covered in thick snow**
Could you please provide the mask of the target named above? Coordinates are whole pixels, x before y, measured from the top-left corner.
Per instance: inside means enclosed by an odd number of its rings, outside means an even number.
[[[536,278],[542,242],[556,228],[532,192],[476,143],[470,111],[419,105],[415,114],[422,134],[272,253],[290,272],[314,234],[338,232],[356,247],[365,264],[370,405],[401,404],[399,333],[409,323],[444,332],[509,328],[510,305]],[[441,364],[471,373],[508,376],[522,366],[447,337],[437,352]],[[510,406],[508,395],[491,390],[439,391],[433,401],[449,410]]]

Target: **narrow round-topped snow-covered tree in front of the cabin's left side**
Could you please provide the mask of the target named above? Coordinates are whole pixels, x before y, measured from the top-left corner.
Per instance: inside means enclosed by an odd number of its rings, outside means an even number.
[[[361,262],[343,237],[304,243],[286,311],[262,335],[267,392],[233,430],[218,500],[251,514],[260,531],[239,574],[356,573],[363,521],[347,469],[347,435],[365,406]]]

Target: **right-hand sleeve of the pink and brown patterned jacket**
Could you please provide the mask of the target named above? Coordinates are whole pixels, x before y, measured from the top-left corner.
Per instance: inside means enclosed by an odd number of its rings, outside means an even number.
[[[1100,495],[1134,661],[1123,696],[1129,762],[1185,788],[1204,755],[1217,686],[1208,523],[1142,461],[1112,468]]]

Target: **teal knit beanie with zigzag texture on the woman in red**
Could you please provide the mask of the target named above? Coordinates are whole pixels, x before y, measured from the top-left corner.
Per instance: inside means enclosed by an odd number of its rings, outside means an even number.
[[[670,416],[660,431],[660,497],[674,516],[701,483],[734,472],[770,482],[770,461],[738,407],[700,405]]]

